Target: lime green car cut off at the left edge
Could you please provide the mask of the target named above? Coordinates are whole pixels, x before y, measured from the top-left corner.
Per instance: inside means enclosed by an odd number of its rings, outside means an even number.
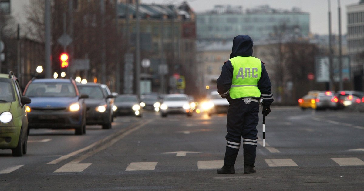
[[[27,105],[31,100],[22,91],[13,72],[0,74],[0,149],[11,149],[13,156],[27,153]]]

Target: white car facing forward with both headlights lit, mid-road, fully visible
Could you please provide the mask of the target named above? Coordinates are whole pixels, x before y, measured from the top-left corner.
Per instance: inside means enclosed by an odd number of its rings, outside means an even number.
[[[186,94],[166,95],[163,98],[159,111],[162,117],[166,117],[168,114],[187,114],[187,116],[192,116],[189,100]]]

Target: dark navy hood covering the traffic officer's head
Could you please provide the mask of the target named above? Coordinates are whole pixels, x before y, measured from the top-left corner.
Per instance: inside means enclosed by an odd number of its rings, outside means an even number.
[[[233,40],[233,49],[230,58],[236,56],[253,56],[253,40],[248,35],[236,36]]]

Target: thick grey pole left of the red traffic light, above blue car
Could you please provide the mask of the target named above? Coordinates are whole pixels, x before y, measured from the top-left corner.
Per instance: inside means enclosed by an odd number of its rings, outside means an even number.
[[[46,78],[51,78],[51,0],[46,0],[46,10],[44,17],[44,24],[46,25],[46,42],[44,46]]]

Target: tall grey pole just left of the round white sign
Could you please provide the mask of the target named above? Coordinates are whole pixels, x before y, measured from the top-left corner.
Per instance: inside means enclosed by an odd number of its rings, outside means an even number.
[[[136,13],[135,13],[135,17],[137,19],[137,23],[136,23],[136,30],[137,30],[137,35],[136,35],[136,52],[137,52],[137,55],[136,55],[136,61],[135,61],[135,64],[136,64],[136,72],[135,72],[135,92],[138,96],[140,96],[140,23],[139,23],[139,0],[136,1],[136,5],[137,5],[137,10],[136,10]]]

